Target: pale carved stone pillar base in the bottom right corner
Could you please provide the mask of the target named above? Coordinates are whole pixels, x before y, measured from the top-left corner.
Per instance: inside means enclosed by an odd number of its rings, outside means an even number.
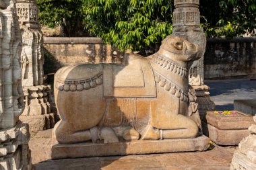
[[[254,117],[256,123],[256,117]],[[244,138],[234,152],[230,170],[256,169],[256,124],[249,128],[251,134]]]

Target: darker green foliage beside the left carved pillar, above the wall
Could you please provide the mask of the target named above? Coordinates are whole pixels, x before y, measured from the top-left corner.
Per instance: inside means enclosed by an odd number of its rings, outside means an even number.
[[[44,26],[62,26],[65,36],[73,36],[82,20],[82,0],[37,0],[39,20]]]

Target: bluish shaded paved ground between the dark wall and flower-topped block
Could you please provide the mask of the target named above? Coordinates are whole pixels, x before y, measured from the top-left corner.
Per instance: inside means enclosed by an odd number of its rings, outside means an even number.
[[[216,110],[233,110],[235,99],[256,99],[256,80],[205,81],[205,84],[210,87]]]

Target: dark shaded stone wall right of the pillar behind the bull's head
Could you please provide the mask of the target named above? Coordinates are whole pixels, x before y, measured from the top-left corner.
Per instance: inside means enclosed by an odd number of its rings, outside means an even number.
[[[256,38],[207,40],[205,78],[248,78],[256,75]]]

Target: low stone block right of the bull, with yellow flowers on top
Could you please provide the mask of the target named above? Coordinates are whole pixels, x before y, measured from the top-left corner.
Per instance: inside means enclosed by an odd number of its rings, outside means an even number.
[[[249,126],[253,124],[253,116],[243,112],[237,114],[219,114],[207,112],[203,121],[203,134],[209,136],[216,144],[238,145],[249,135]]]

